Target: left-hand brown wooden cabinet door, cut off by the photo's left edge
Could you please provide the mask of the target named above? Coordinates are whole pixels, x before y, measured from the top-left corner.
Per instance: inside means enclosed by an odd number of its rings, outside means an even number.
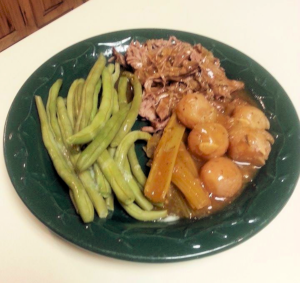
[[[0,0],[0,52],[35,30],[29,0]]]

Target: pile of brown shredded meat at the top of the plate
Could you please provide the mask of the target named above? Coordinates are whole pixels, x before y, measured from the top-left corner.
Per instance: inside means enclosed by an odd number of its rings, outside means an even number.
[[[220,60],[201,44],[192,46],[175,37],[131,42],[125,58],[115,49],[116,61],[131,66],[144,86],[140,116],[151,122],[145,131],[165,127],[173,108],[188,93],[201,92],[209,100],[230,98],[244,83],[226,77]]]

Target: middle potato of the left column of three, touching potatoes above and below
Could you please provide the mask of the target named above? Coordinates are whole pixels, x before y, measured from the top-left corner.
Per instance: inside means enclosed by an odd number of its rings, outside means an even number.
[[[224,155],[228,145],[227,130],[218,123],[198,124],[188,137],[188,146],[191,152],[204,159]]]

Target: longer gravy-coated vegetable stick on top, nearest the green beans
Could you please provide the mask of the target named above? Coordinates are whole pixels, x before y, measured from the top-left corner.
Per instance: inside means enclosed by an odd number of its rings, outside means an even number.
[[[184,131],[185,127],[178,122],[174,113],[155,150],[154,160],[145,185],[144,194],[154,203],[165,200]]]

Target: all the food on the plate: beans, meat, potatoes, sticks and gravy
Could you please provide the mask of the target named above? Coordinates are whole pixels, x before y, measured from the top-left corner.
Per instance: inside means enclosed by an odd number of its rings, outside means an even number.
[[[200,218],[229,204],[274,143],[244,83],[228,79],[201,44],[175,37],[132,41],[125,56],[113,54],[108,65],[100,54],[65,100],[61,79],[46,109],[35,97],[44,144],[83,222],[94,210],[106,218],[114,198],[141,221]],[[151,125],[131,131],[139,114]],[[137,140],[147,141],[148,177]]]

